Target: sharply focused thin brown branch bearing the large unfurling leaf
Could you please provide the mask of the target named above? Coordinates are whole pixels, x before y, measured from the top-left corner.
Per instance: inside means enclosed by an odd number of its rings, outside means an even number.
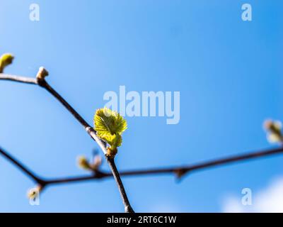
[[[103,140],[100,140],[100,138],[98,138],[98,136],[96,135],[96,131],[94,131],[94,129],[83,119],[83,117],[77,111],[75,111],[75,109],[58,92],[56,92],[50,86],[50,84],[48,84],[45,81],[45,79],[32,79],[30,77],[19,77],[11,74],[0,74],[0,79],[11,80],[14,82],[23,82],[27,84],[38,84],[40,87],[45,88],[76,118],[77,121],[79,121],[79,123],[81,123],[83,128],[86,129],[88,135],[90,135],[91,138],[93,138],[93,140],[95,140],[96,143],[98,143],[98,145],[100,146],[101,150],[103,150],[103,153],[106,157],[107,148],[105,142]],[[106,160],[108,160],[108,157],[106,157]],[[115,166],[115,162],[108,161],[108,165],[110,165],[110,170],[112,171],[112,175],[114,176],[117,182],[117,186],[119,188],[122,201],[125,205],[125,211],[134,212],[133,209],[131,208],[131,205],[129,204],[129,199],[127,198],[127,194],[125,192],[124,185],[122,184],[122,180],[120,179],[119,172],[117,171],[117,167]]]

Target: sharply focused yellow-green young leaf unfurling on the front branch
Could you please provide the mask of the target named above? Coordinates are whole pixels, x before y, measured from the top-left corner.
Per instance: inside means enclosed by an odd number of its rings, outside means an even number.
[[[127,129],[127,121],[117,112],[108,108],[98,109],[94,116],[97,135],[105,140],[112,150],[122,145],[122,133]]]

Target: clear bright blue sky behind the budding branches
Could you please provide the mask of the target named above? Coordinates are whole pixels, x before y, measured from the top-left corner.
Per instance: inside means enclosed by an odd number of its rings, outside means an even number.
[[[253,6],[253,21],[241,6]],[[29,6],[40,5],[40,21]],[[0,0],[0,52],[16,59],[6,72],[48,82],[92,123],[103,94],[180,91],[180,123],[127,118],[120,170],[183,165],[272,147],[265,118],[283,119],[281,0],[18,1]],[[0,82],[0,145],[38,175],[82,175],[76,156],[96,143],[43,89]],[[283,175],[283,157],[173,176],[123,178],[136,211],[221,211],[227,194],[257,192]],[[103,165],[108,170],[107,165]],[[115,182],[49,187],[40,206],[34,184],[0,157],[0,211],[123,211]]]

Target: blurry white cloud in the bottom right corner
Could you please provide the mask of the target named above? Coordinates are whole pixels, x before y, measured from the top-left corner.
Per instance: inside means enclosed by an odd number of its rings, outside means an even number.
[[[283,213],[283,177],[271,182],[268,187],[252,194],[252,205],[244,206],[242,197],[228,196],[222,204],[222,211],[229,213],[242,212],[275,212]]]

